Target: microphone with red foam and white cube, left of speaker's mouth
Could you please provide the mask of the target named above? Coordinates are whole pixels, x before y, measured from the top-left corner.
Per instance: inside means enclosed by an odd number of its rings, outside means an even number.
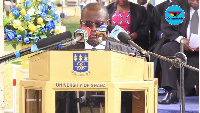
[[[89,27],[81,27],[74,32],[75,42],[85,42],[91,35],[91,29]]]

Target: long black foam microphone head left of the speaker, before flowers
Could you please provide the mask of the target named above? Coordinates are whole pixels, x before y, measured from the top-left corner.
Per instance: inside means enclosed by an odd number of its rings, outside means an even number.
[[[35,44],[37,45],[38,49],[49,46],[51,44],[60,42],[62,40],[65,40],[67,38],[71,38],[72,37],[72,33],[70,31],[66,31],[64,33],[60,33],[60,34],[56,34],[44,39],[39,40],[38,42],[36,42]]]

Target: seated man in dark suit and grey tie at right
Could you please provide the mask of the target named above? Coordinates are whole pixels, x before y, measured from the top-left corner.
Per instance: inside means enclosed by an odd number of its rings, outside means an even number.
[[[180,41],[184,44],[185,54],[187,56],[187,64],[199,67],[199,45],[191,47],[190,41],[193,37],[199,37],[199,0],[180,0],[173,1],[173,4],[179,5],[185,11],[185,19],[179,25],[169,24],[165,18],[162,19],[161,29],[166,35],[164,37],[168,42],[161,48],[161,55],[174,56],[180,51]],[[195,40],[193,40],[195,41]],[[196,40],[198,41],[198,39]],[[166,97],[159,101],[159,104],[178,103],[177,97],[177,81],[179,81],[179,69],[172,66],[171,63],[160,60],[162,67],[162,87],[168,93]],[[186,95],[193,89],[199,80],[199,73],[185,69],[185,92]]]

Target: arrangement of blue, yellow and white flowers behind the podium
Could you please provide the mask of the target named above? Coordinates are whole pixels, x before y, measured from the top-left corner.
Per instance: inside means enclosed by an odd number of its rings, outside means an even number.
[[[61,33],[60,16],[50,0],[20,0],[4,19],[5,43],[14,48],[18,44],[35,42]]]

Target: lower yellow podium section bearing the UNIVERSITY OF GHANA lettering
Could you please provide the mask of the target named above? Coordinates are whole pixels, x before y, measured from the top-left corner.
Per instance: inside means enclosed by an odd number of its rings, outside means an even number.
[[[103,108],[104,111],[100,113],[121,113],[121,93],[123,91],[144,91],[144,113],[157,113],[157,79],[153,81],[132,82],[53,82],[22,80],[20,86],[20,113],[55,113],[56,91],[103,91],[105,92],[105,107]],[[25,95],[27,94],[26,89],[39,90],[42,96],[38,94],[38,99],[32,99],[34,101],[30,102],[30,99],[27,99]],[[31,104],[31,106],[27,102],[38,104]],[[27,112],[30,111],[33,105],[36,106],[34,107],[35,111]],[[134,110],[132,112],[134,113]]]

